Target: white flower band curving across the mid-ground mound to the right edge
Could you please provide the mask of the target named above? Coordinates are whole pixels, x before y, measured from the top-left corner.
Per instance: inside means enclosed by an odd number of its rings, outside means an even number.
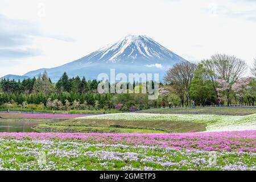
[[[205,115],[205,114],[149,114],[116,113],[92,115],[76,119],[113,120],[113,121],[169,121],[206,123],[207,131],[256,130],[256,114],[251,115]]]

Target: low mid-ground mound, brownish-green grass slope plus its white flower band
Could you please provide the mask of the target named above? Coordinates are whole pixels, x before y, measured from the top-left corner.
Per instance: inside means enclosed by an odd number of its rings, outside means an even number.
[[[48,127],[48,129],[47,129]],[[204,114],[149,114],[117,113],[92,115],[76,119],[39,125],[39,131],[96,132],[104,129],[105,133],[124,133],[127,129],[157,130],[167,133],[193,133],[200,131],[232,131],[256,129],[256,114],[251,115],[204,115]],[[100,130],[97,130],[100,129]],[[141,131],[140,131],[141,130]],[[156,133],[154,132],[154,133]],[[147,132],[146,132],[147,133]]]

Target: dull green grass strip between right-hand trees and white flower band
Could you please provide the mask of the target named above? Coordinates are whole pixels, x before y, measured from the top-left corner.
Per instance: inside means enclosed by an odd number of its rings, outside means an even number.
[[[139,113],[159,113],[159,114],[216,114],[216,115],[248,115],[255,114],[256,107],[199,107],[192,108],[166,108],[148,109]]]

